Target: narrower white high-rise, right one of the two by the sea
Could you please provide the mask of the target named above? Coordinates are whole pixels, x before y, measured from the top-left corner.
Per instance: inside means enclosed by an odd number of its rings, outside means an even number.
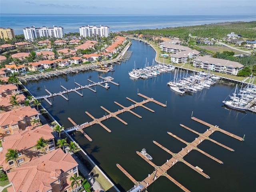
[[[109,27],[108,26],[82,26],[79,28],[80,36],[82,37],[92,37],[92,36],[101,36],[108,37],[109,36]]]

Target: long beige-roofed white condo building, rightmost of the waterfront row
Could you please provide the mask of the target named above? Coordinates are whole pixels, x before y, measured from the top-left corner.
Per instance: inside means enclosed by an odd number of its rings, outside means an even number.
[[[244,67],[238,62],[207,56],[199,56],[198,58],[195,58],[193,60],[193,66],[230,75],[237,75],[238,71]]]

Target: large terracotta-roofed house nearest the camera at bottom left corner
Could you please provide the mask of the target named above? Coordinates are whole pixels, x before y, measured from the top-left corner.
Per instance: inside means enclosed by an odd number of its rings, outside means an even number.
[[[70,192],[70,177],[78,175],[78,164],[60,148],[8,173],[8,192]]]

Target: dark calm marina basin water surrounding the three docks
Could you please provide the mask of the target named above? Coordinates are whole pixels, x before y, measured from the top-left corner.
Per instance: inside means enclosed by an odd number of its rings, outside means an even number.
[[[94,162],[111,178],[121,191],[126,191],[133,186],[133,183],[116,167],[116,163],[123,166],[136,180],[141,181],[154,170],[145,160],[136,154],[142,148],[146,148],[153,157],[153,162],[161,166],[170,154],[153,144],[156,140],[174,153],[179,152],[185,144],[169,136],[167,132],[172,132],[178,137],[192,142],[197,135],[180,127],[184,124],[198,132],[206,131],[207,127],[193,120],[190,120],[192,111],[195,117],[200,118],[210,124],[218,125],[220,128],[232,132],[238,136],[245,136],[245,141],[240,142],[224,134],[215,132],[211,138],[225,144],[235,151],[230,152],[210,141],[204,141],[199,148],[212,156],[222,160],[224,164],[219,164],[214,160],[200,154],[197,151],[190,152],[185,156],[185,160],[193,166],[199,166],[210,179],[206,179],[182,162],[168,170],[168,174],[188,188],[190,191],[198,192],[242,192],[254,191],[256,188],[256,114],[247,114],[227,110],[222,106],[222,100],[230,94],[234,84],[219,82],[210,89],[204,89],[194,95],[180,96],[166,86],[166,83],[173,79],[173,73],[161,74],[160,76],[148,80],[132,80],[128,76],[128,71],[136,67],[143,67],[147,61],[151,64],[155,57],[155,52],[149,46],[133,41],[130,50],[133,51],[128,62],[115,65],[115,72],[100,74],[99,72],[85,72],[73,76],[62,76],[53,80],[34,82],[26,87],[34,96],[45,95],[44,86],[49,91],[58,92],[61,90],[60,83],[66,88],[74,88],[74,81],[79,84],[88,84],[87,79],[99,81],[98,76],[112,76],[115,82],[120,82],[120,86],[110,84],[110,89],[105,90],[96,87],[97,93],[90,90],[83,90],[84,97],[76,93],[68,95],[67,102],[61,97],[52,100],[53,106],[49,106],[42,101],[42,105],[56,118],[60,124],[70,127],[72,124],[68,117],[77,124],[90,122],[92,119],[85,114],[88,111],[96,118],[105,115],[105,111],[100,108],[114,112],[120,107],[114,101],[123,106],[130,106],[132,102],[142,101],[143,98],[137,95],[139,92],[153,97],[162,103],[167,101],[167,107],[161,107],[154,103],[146,104],[153,109],[152,113],[144,108],[138,107],[134,110],[142,118],[138,118],[129,112],[119,115],[128,125],[124,125],[118,120],[111,118],[103,122],[112,133],[108,133],[99,125],[86,128],[85,132],[93,139],[89,142],[79,132],[72,137],[89,154]],[[177,191],[182,190],[164,176],[157,179],[148,188],[149,192]]]

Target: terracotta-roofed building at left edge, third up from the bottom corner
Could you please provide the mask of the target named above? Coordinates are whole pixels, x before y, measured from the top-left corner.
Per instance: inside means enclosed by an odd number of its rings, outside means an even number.
[[[30,106],[4,112],[0,117],[0,133],[7,136],[20,129],[25,130],[26,127],[31,126],[32,119],[38,118],[37,110]]]

